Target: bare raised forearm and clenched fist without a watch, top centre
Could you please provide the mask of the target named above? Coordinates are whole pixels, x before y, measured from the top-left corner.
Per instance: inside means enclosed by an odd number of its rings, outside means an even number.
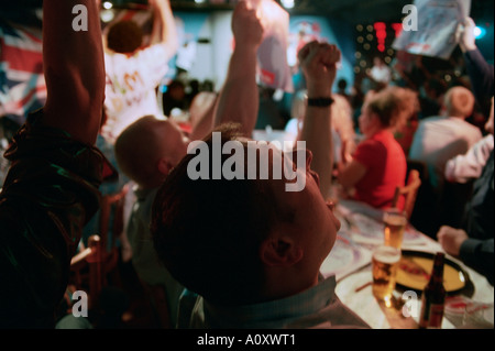
[[[216,107],[215,124],[237,122],[245,136],[256,124],[260,97],[256,85],[257,48],[263,39],[263,25],[256,11],[245,1],[239,2],[232,17],[235,47],[230,59],[226,84]]]

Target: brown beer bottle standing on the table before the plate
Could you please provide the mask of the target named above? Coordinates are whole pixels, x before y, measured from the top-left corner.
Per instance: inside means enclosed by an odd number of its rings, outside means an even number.
[[[430,281],[421,297],[421,315],[419,328],[441,328],[443,307],[446,303],[446,288],[443,286],[443,252],[437,252]]]

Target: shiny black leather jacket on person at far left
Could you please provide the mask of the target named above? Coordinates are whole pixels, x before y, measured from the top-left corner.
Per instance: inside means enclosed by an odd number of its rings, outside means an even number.
[[[0,328],[53,328],[82,227],[97,211],[105,156],[31,114],[4,156]],[[68,116],[69,118],[69,116]]]

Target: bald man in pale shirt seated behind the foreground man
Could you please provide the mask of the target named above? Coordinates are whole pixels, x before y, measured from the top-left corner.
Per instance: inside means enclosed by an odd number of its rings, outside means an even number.
[[[132,205],[127,227],[132,264],[146,286],[164,288],[172,327],[176,325],[183,286],[160,262],[153,248],[150,221],[158,185],[185,153],[186,144],[178,127],[170,120],[157,119],[154,116],[138,119],[125,128],[116,141],[118,165],[122,173],[135,183],[135,202]]]

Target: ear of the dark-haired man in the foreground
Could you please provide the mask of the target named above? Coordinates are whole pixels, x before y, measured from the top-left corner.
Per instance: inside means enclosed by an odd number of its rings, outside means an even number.
[[[304,250],[290,237],[271,237],[260,248],[261,260],[267,266],[284,267],[298,263]]]

